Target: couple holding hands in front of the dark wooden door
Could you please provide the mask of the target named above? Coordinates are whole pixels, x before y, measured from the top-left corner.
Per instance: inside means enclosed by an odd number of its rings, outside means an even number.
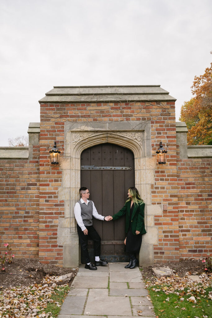
[[[97,270],[97,266],[107,265],[106,261],[99,258],[100,256],[100,244],[101,239],[92,225],[92,217],[98,220],[117,220],[118,218],[126,215],[125,232],[126,238],[124,244],[126,245],[126,252],[129,254],[129,264],[125,268],[134,268],[138,259],[136,254],[140,251],[142,242],[142,234],[146,233],[144,227],[144,206],[145,203],[141,199],[138,190],[135,187],[128,189],[128,198],[123,208],[113,216],[100,215],[92,201],[89,201],[89,190],[85,187],[79,189],[81,199],[75,204],[74,215],[77,221],[77,232],[79,235],[79,241],[82,247],[82,253],[85,258],[85,268],[90,270]],[[88,239],[92,239],[94,242],[95,252],[95,265],[90,261],[88,254],[87,244]]]

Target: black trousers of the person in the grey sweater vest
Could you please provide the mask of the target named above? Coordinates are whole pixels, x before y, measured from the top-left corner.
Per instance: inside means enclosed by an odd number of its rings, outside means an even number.
[[[85,263],[90,263],[90,257],[88,254],[88,240],[92,239],[94,243],[94,253],[95,256],[100,256],[100,245],[101,245],[101,238],[99,234],[94,229],[93,225],[86,226],[88,230],[88,235],[85,235],[84,232],[81,230],[81,227],[77,224],[77,232],[79,235],[79,242],[81,244],[83,256],[85,258]]]

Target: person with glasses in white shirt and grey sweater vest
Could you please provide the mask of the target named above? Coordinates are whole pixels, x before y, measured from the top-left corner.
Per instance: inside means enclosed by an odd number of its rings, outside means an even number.
[[[83,256],[85,258],[85,268],[95,271],[97,270],[96,266],[105,266],[107,265],[107,262],[99,259],[101,239],[92,225],[92,217],[97,218],[98,220],[108,221],[109,216],[103,217],[97,212],[94,203],[88,200],[90,193],[87,188],[81,187],[79,189],[79,194],[81,199],[75,204],[74,207],[74,215],[77,221],[77,232],[79,235]],[[88,238],[94,241],[95,266],[91,264],[88,254]]]

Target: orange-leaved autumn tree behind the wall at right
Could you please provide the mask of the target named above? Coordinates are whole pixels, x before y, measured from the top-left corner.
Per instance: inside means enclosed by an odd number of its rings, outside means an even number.
[[[194,97],[181,106],[180,121],[188,127],[188,145],[212,142],[212,63],[203,75],[195,76],[191,92]]]

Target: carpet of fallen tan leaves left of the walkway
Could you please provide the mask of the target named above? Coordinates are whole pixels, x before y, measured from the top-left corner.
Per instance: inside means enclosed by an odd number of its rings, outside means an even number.
[[[51,299],[51,296],[60,290],[54,282],[55,278],[56,276],[47,275],[41,284],[2,289],[0,291],[0,312],[3,317],[52,318],[51,312],[43,311],[39,315],[38,313],[46,308],[48,303],[55,303],[60,307],[57,301]]]

